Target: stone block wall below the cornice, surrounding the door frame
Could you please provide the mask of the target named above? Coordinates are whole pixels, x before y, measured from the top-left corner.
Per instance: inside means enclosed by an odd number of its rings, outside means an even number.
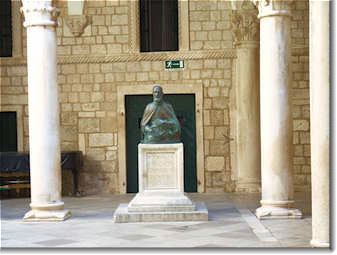
[[[231,62],[231,59],[188,60],[186,68],[178,71],[165,71],[162,61],[60,65],[62,149],[80,149],[85,153],[81,187],[89,193],[97,189],[118,192],[118,86],[202,82],[206,191],[227,190],[231,184],[228,143]]]

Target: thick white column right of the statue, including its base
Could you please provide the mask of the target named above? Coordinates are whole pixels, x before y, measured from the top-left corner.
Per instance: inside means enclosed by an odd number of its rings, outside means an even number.
[[[291,2],[254,1],[260,18],[260,219],[301,218],[293,208]]]

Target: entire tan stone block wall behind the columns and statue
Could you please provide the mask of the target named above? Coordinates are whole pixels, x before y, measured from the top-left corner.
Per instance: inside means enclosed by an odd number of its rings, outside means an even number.
[[[295,2],[294,173],[295,190],[303,190],[310,187],[308,2]],[[92,23],[80,37],[74,37],[66,25],[66,2],[57,5],[61,9],[57,28],[61,143],[62,150],[82,150],[85,155],[80,188],[88,194],[119,192],[118,86],[201,83],[205,191],[233,191],[229,95],[234,86],[235,49],[230,3],[190,1],[190,51],[172,54],[133,52],[128,1],[88,1],[86,14]],[[23,56],[0,59],[0,82],[2,109],[16,107],[23,113],[23,144],[28,150],[25,32]],[[166,71],[163,62],[168,58],[184,59],[185,68]]]

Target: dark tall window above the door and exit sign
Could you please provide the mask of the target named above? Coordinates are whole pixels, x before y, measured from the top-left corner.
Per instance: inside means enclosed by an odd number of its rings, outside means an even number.
[[[140,0],[140,51],[177,51],[178,0]]]

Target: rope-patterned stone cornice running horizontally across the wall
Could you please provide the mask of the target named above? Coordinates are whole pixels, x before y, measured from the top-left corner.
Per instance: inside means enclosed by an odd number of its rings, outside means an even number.
[[[293,56],[308,56],[307,46],[292,48]],[[134,61],[165,61],[165,60],[193,60],[193,59],[223,59],[236,58],[236,49],[225,49],[216,51],[179,52],[179,53],[145,53],[145,54],[116,54],[110,56],[58,56],[58,64],[80,64],[80,63],[113,63]],[[0,58],[0,66],[26,65],[25,57]]]

